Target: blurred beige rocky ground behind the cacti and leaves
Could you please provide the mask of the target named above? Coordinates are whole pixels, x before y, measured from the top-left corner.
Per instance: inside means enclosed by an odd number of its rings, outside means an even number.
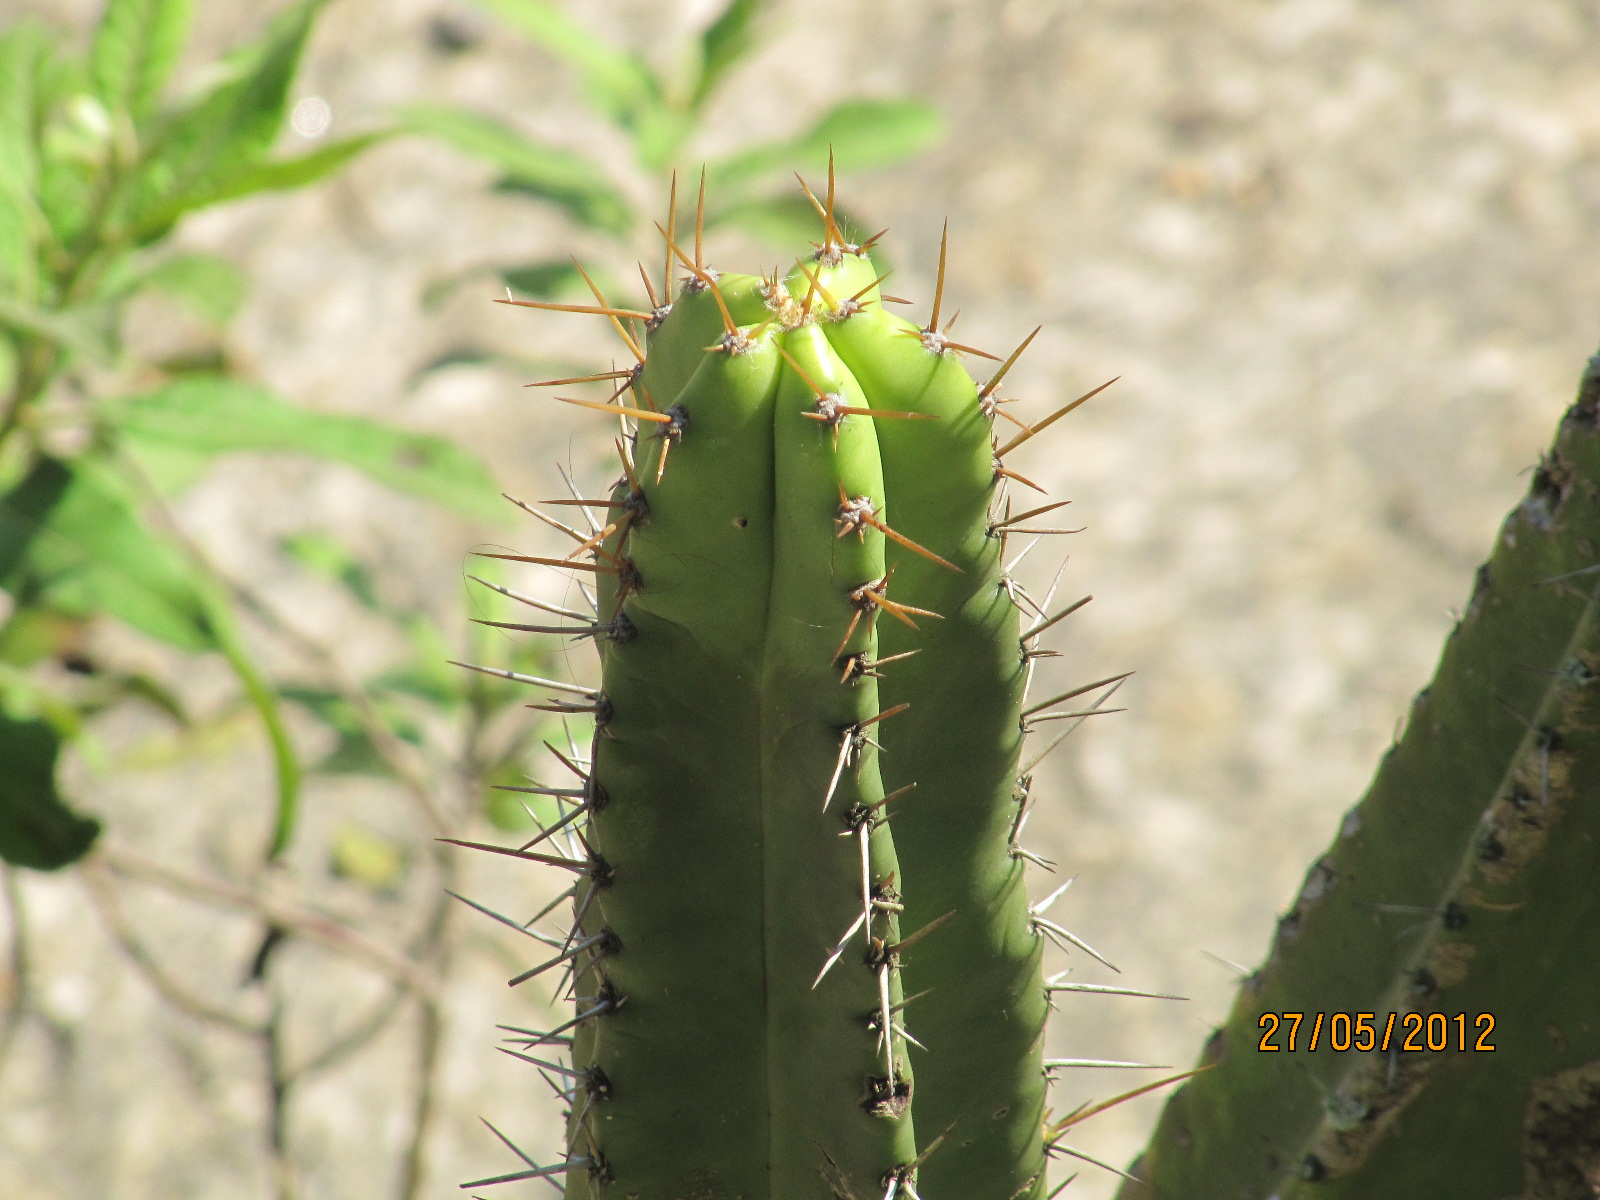
[[[566,8],[654,56],[717,5]],[[1230,1002],[1229,963],[1261,958],[1278,906],[1426,683],[1451,610],[1600,342],[1600,10],[1587,0],[778,0],[773,10],[765,48],[717,104],[704,149],[797,130],[842,94],[934,101],[949,133],[931,154],[842,181],[864,221],[893,229],[894,290],[926,304],[947,216],[946,296],[966,314],[963,339],[1005,352],[1045,326],[1010,376],[1026,402],[1018,411],[1043,414],[1120,376],[1019,464],[1070,498],[1072,523],[1088,526],[1042,546],[1027,578],[1048,584],[1070,552],[1062,595],[1096,595],[1056,638],[1064,656],[1043,686],[1138,672],[1117,698],[1128,712],[1086,723],[1046,760],[1032,842],[1077,875],[1053,915],[1110,957],[1122,981],[1192,998],[1069,997],[1051,1050],[1187,1066]],[[0,21],[30,11],[86,29],[98,5],[3,0]],[[192,59],[261,19],[242,0],[198,5]],[[339,134],[381,123],[398,102],[448,99],[587,146],[627,178],[626,147],[574,99],[571,75],[454,0],[334,0],[301,90],[326,101]],[[598,422],[520,390],[533,376],[515,370],[414,378],[466,339],[574,363],[614,354],[576,318],[491,306],[488,275],[424,306],[429,285],[474,267],[611,253],[534,205],[490,194],[488,179],[474,162],[403,139],[331,186],[205,214],[181,240],[248,266],[254,291],[229,346],[242,370],[302,405],[450,434],[507,491],[554,496],[558,459],[600,478]],[[776,251],[725,238],[710,258],[744,266]],[[155,354],[182,349],[190,331],[152,312],[139,336]],[[269,458],[232,461],[181,517],[352,670],[395,646],[293,571],[274,550],[278,538],[339,534],[382,565],[397,602],[440,621],[461,619],[470,547],[544,544],[523,525],[474,528],[354,474]],[[202,707],[227,690],[208,664],[138,653],[186,672]],[[77,763],[74,792],[120,843],[226,875],[266,821],[259,734],[248,720],[224,723],[205,754],[189,747],[163,763],[158,728],[138,714],[107,720],[112,766]],[[318,736],[302,733],[307,744]],[[392,789],[362,781],[318,781],[306,810],[306,853],[293,864],[302,894],[382,918],[381,901],[325,878],[317,846],[352,816],[414,840],[410,811]],[[547,886],[517,870],[470,870],[469,894],[518,909]],[[1051,886],[1037,880],[1040,894]],[[0,1195],[282,1195],[258,1048],[165,1005],[107,939],[72,872],[29,875],[18,894],[50,1022],[22,1027],[0,1062]],[[141,890],[125,909],[195,992],[266,1003],[238,987],[259,936],[250,920]],[[555,1139],[544,1086],[491,1048],[494,1021],[536,1018],[542,1002],[504,989],[518,947],[469,930],[448,981],[422,1195],[454,1195],[461,1179],[507,1162],[480,1114],[546,1160]],[[1051,962],[1107,979],[1078,955]],[[370,973],[314,947],[293,947],[282,978],[306,1038],[381,992]],[[5,981],[14,990],[14,971]],[[285,1053],[298,1053],[288,1034]],[[283,1138],[299,1195],[395,1192],[413,1072],[402,1019],[296,1093]],[[1058,1110],[1147,1078],[1080,1074],[1094,1078],[1067,1080]],[[1106,1114],[1074,1144],[1126,1165],[1158,1104]],[[1085,1168],[1067,1194],[1106,1197],[1114,1184]]]

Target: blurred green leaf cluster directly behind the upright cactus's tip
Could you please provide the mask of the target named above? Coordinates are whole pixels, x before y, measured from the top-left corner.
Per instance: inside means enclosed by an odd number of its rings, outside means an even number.
[[[490,162],[501,192],[554,205],[579,229],[643,253],[653,222],[666,210],[669,174],[699,165],[696,142],[709,110],[739,67],[760,45],[770,19],[765,0],[731,0],[677,56],[677,70],[658,72],[643,56],[621,50],[584,29],[552,0],[477,0],[509,27],[570,67],[598,122],[619,131],[632,147],[646,187],[627,187],[582,149],[534,138],[501,117],[437,104],[414,104],[398,114],[402,128],[437,138]],[[566,5],[574,8],[574,5]],[[784,106],[779,85],[752,88],[746,110]],[[797,134],[758,142],[706,163],[706,227],[739,227],[779,245],[816,237],[816,211],[794,190],[790,171],[819,173],[829,150],[840,170],[888,166],[915,157],[942,134],[938,109],[907,98],[850,98],[816,117]],[[592,146],[594,136],[573,139]],[[634,198],[648,194],[651,203]],[[659,202],[659,203],[658,203]],[[848,213],[842,218],[848,221]],[[570,258],[520,262],[499,269],[517,291],[550,299],[584,288]],[[435,288],[437,298],[445,288]]]

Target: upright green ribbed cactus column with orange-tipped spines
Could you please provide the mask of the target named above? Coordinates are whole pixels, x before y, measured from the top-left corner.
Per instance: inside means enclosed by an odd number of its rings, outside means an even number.
[[[502,622],[592,637],[602,664],[594,690],[544,682],[595,734],[557,800],[570,822],[510,851],[576,877],[541,963],[566,971],[573,1016],[509,1038],[546,1072],[566,1058],[568,1150],[480,1184],[1046,1194],[1050,1005],[1014,845],[1038,651],[1002,570],[1032,509],[1011,518],[1026,480],[1002,456],[1054,416],[998,445],[1016,355],[979,389],[938,294],[926,326],[885,312],[832,173],[818,210],[821,248],[782,278],[712,272],[696,219],[693,256],[667,237],[650,312],[576,306],[635,355],[595,376],[610,400],[574,402],[624,419],[624,477],[563,501],[592,528],[568,530],[568,558],[525,560],[590,573],[597,618]]]

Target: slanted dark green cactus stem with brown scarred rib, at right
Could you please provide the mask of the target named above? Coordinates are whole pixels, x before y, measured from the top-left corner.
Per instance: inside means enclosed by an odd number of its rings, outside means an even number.
[[[1597,562],[1600,357],[1405,734],[1122,1200],[1595,1195]],[[1302,1046],[1318,1011],[1374,1013],[1379,1032],[1390,1013],[1466,1013],[1469,1050],[1451,1019],[1443,1053],[1427,1053],[1426,1034],[1424,1053],[1259,1053],[1261,1013],[1283,1011],[1307,1014]],[[1485,1032],[1493,1053],[1474,1050]]]

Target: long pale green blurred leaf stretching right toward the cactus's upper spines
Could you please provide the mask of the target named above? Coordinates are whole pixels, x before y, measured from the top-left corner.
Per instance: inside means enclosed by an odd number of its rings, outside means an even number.
[[[178,379],[157,392],[102,405],[102,414],[139,445],[192,451],[296,451],[355,467],[397,491],[490,522],[506,506],[488,467],[430,434],[362,416],[314,413],[270,392],[219,376]]]

